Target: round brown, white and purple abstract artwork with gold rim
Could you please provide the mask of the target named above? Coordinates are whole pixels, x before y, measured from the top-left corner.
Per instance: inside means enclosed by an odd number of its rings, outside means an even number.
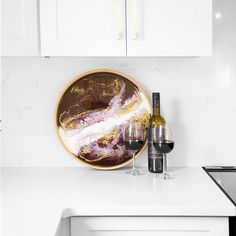
[[[149,99],[132,79],[119,72],[96,70],[65,88],[55,124],[70,154],[90,167],[108,170],[132,160],[123,144],[125,124],[136,119],[148,126],[150,114]]]

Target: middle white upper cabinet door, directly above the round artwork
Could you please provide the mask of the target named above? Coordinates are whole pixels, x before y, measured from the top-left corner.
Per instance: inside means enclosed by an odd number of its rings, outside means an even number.
[[[125,56],[125,0],[40,0],[44,56]]]

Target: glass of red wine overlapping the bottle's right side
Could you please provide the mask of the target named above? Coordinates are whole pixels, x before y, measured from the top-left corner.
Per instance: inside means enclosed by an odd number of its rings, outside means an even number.
[[[154,129],[153,145],[156,151],[163,156],[163,174],[161,176],[164,180],[173,178],[167,173],[167,153],[174,148],[172,129],[169,124],[159,125]]]

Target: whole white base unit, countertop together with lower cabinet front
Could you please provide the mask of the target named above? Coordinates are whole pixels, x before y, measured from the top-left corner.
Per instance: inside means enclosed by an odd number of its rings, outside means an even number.
[[[125,171],[2,168],[2,235],[228,235],[235,206],[202,168]]]

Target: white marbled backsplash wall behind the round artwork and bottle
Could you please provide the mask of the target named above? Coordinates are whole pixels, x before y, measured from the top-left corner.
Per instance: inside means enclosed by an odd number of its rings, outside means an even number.
[[[208,58],[3,58],[2,165],[79,166],[56,137],[55,104],[70,80],[99,68],[132,76],[149,95],[161,92],[174,125],[171,165],[236,165],[235,12],[235,0],[214,0]],[[138,162],[146,165],[146,152]]]

